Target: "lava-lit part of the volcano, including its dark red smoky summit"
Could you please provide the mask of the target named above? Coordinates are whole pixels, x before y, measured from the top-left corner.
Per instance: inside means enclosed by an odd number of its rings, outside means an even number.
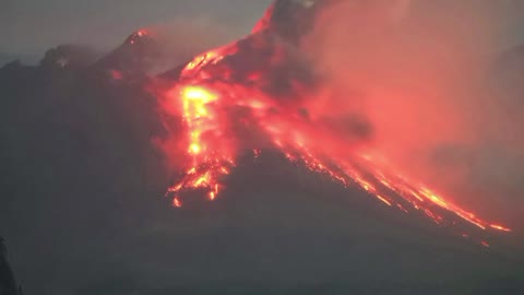
[[[178,163],[183,173],[168,190],[174,205],[182,206],[188,190],[215,200],[224,188],[221,178],[237,166],[237,158],[277,150],[290,162],[440,226],[511,232],[398,172],[373,150],[372,126],[365,118],[329,105],[334,101],[323,88],[322,74],[298,45],[314,15],[332,3],[276,1],[252,34],[196,56],[175,70],[175,80],[159,82],[156,96],[163,98],[166,116],[181,120],[184,130],[165,144],[168,154],[186,153]],[[350,101],[350,94],[344,99]]]

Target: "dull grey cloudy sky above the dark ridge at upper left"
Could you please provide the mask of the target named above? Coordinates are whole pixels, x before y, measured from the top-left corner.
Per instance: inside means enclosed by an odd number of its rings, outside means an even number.
[[[205,19],[242,34],[271,0],[1,0],[0,52],[41,55],[63,43],[111,48],[131,32]]]

